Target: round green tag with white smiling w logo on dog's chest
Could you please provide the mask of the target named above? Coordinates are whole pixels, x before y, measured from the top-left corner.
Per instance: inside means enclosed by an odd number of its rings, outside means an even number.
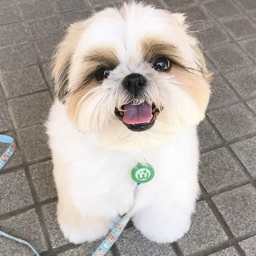
[[[131,171],[131,177],[137,183],[146,183],[151,181],[155,175],[153,167],[149,164],[138,163]]]

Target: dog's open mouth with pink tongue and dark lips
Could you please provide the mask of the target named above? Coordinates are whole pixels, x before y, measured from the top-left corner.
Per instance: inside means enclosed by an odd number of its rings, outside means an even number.
[[[121,109],[123,111],[115,109],[115,114],[131,131],[146,131],[150,129],[159,113],[159,109],[155,104],[149,105],[146,102],[139,105],[128,103],[123,105]]]

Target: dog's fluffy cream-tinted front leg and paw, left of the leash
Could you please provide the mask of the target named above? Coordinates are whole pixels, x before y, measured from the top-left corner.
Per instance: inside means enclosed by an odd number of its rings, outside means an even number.
[[[57,216],[65,238],[74,244],[106,236],[113,224],[109,218],[82,216],[67,198],[59,199]]]

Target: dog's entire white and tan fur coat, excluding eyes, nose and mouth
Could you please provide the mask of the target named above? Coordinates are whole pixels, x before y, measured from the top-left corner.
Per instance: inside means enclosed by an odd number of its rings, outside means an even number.
[[[47,123],[58,190],[58,222],[74,243],[107,234],[129,210],[131,169],[148,162],[154,179],[141,187],[133,223],[147,238],[173,242],[189,229],[198,196],[196,125],[204,118],[211,75],[183,14],[145,4],[106,8],[71,24],[54,56],[56,99]],[[153,68],[156,57],[171,68]],[[105,67],[108,77],[97,79]],[[123,79],[141,74],[138,97]],[[115,110],[133,102],[159,113],[146,131],[131,131]]]

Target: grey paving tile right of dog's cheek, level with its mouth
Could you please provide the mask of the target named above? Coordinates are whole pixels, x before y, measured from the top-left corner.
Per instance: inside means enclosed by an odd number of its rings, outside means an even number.
[[[209,116],[226,140],[256,132],[256,117],[242,103],[212,111]]]

